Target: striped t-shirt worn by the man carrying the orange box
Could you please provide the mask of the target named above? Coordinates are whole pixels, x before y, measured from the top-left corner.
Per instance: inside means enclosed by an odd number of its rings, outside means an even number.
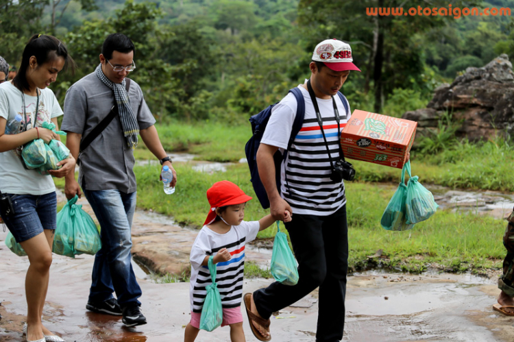
[[[288,151],[285,162],[282,162],[280,191],[282,198],[291,205],[293,213],[327,216],[346,204],[345,184],[342,181],[336,183],[330,180],[332,170],[330,159],[313,101],[310,99],[308,90],[302,85],[298,88],[304,95],[304,123]],[[334,96],[334,99],[339,112],[341,130],[343,130],[347,121],[350,120],[350,104],[347,103],[348,111],[346,111],[339,96]],[[332,160],[339,160],[339,136],[332,99],[317,98],[316,100],[323,118],[323,130],[330,155]],[[279,147],[283,152],[291,136],[296,108],[297,101],[291,93],[273,107],[261,143]]]

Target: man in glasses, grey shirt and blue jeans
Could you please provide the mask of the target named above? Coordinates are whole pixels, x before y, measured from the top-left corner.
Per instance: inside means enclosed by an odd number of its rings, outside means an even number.
[[[142,292],[130,254],[130,231],[136,208],[133,151],[138,134],[162,166],[172,170],[171,186],[177,180],[143,92],[136,82],[126,78],[136,69],[134,52],[130,38],[110,34],[103,42],[95,72],[66,92],[66,114],[61,125],[68,133],[66,146],[80,166],[78,182],[75,174],[70,173],[64,193],[68,199],[80,197],[82,187],[101,226],[102,247],[95,256],[86,308],[96,313],[122,315],[126,326],[147,322],[140,312],[138,297]]]

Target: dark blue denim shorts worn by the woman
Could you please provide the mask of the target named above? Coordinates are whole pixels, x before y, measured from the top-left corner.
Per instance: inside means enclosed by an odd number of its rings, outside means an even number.
[[[55,191],[46,195],[7,195],[11,197],[14,214],[2,219],[17,243],[32,239],[45,229],[57,228]]]

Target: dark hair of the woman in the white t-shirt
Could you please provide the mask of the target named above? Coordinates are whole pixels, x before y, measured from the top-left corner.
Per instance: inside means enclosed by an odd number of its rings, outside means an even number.
[[[72,73],[75,73],[75,62],[68,53],[68,49],[63,42],[54,36],[46,34],[34,34],[30,38],[25,49],[23,49],[23,56],[21,57],[21,65],[18,73],[12,80],[12,84],[19,90],[30,90],[29,82],[27,81],[27,69],[29,69],[30,58],[36,57],[38,66],[45,64],[49,60],[55,60],[58,57],[64,58],[64,68],[71,67]]]

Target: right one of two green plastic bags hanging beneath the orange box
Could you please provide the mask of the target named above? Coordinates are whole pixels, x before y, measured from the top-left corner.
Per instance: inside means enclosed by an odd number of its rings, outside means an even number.
[[[436,212],[439,207],[435,203],[434,195],[418,181],[417,175],[409,178],[407,182],[406,215],[407,224],[425,221]]]

